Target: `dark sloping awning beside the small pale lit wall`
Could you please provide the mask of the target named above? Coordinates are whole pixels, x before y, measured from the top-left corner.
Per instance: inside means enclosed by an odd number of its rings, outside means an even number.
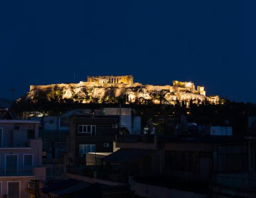
[[[142,150],[142,149],[120,149],[104,158],[103,162],[114,162],[114,163],[125,163],[129,161],[136,160],[147,154],[150,154],[152,150]]]

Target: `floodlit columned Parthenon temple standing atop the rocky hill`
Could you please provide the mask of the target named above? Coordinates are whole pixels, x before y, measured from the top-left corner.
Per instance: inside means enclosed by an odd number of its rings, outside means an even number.
[[[115,84],[115,83],[123,83],[132,85],[133,84],[133,76],[97,76],[97,77],[87,77],[87,82],[95,82],[100,84]]]

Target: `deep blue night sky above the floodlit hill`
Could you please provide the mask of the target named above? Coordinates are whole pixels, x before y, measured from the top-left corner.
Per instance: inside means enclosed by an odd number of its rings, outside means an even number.
[[[0,97],[134,76],[256,103],[256,1],[1,1]]]

